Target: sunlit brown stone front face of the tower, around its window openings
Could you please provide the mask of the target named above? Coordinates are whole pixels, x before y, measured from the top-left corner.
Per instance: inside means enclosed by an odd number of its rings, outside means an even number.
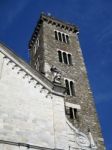
[[[81,110],[78,112],[79,122],[76,124],[76,127],[80,128],[80,130],[86,134],[88,134],[89,127],[95,142],[97,142],[98,148],[103,150],[104,145],[99,140],[102,138],[99,121],[97,119],[95,104],[93,102],[93,96],[89,86],[87,72],[77,35],[67,30],[65,31],[60,27],[56,27],[55,25],[48,24],[47,22],[43,22],[43,30],[45,75],[49,80],[52,80],[52,72],[50,71],[50,68],[54,65],[61,71],[63,83],[64,78],[74,81],[75,96],[66,96],[65,101],[79,104],[81,106]],[[70,43],[65,44],[55,40],[55,30],[68,34],[70,37]],[[59,62],[57,49],[72,54],[72,65],[66,65]]]

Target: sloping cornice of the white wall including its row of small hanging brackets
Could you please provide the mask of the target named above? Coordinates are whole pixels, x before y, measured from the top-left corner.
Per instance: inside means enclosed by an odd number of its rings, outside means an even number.
[[[51,81],[45,78],[42,74],[34,70],[31,66],[29,66],[26,62],[24,62],[21,58],[15,55],[12,51],[9,50],[6,46],[0,43],[0,52],[4,55],[4,59],[8,59],[7,65],[13,63],[12,70],[16,67],[19,68],[18,74],[20,72],[24,72],[23,79],[26,76],[30,77],[29,83],[35,81],[34,88],[38,84],[42,85],[42,90],[48,90],[48,94],[54,94],[58,96],[64,97],[65,88],[62,86],[54,85]],[[41,90],[41,92],[42,92]],[[46,96],[48,97],[48,95]]]

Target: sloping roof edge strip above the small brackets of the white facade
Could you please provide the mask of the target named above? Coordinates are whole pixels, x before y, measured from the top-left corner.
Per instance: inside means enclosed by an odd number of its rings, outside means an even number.
[[[13,53],[12,50],[5,44],[0,43],[0,47],[3,48],[3,50],[0,50],[1,53],[3,53],[12,62],[15,62],[21,69],[25,70],[25,72],[27,72],[32,78],[37,80],[47,90],[49,90],[50,93],[64,97],[65,87],[53,84],[53,82],[48,80],[44,75],[33,69],[28,63]]]

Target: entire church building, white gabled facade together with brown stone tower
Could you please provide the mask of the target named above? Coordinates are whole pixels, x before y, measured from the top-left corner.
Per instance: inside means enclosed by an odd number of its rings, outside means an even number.
[[[41,14],[30,65],[0,44],[0,150],[104,150],[75,25]]]

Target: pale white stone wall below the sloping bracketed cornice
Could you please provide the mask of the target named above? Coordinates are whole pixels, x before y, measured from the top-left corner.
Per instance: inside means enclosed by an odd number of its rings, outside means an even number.
[[[29,76],[24,77],[25,72],[13,66],[0,53],[0,140],[66,149],[63,97],[48,95],[41,84],[34,88]],[[0,146],[18,150],[6,144]]]

